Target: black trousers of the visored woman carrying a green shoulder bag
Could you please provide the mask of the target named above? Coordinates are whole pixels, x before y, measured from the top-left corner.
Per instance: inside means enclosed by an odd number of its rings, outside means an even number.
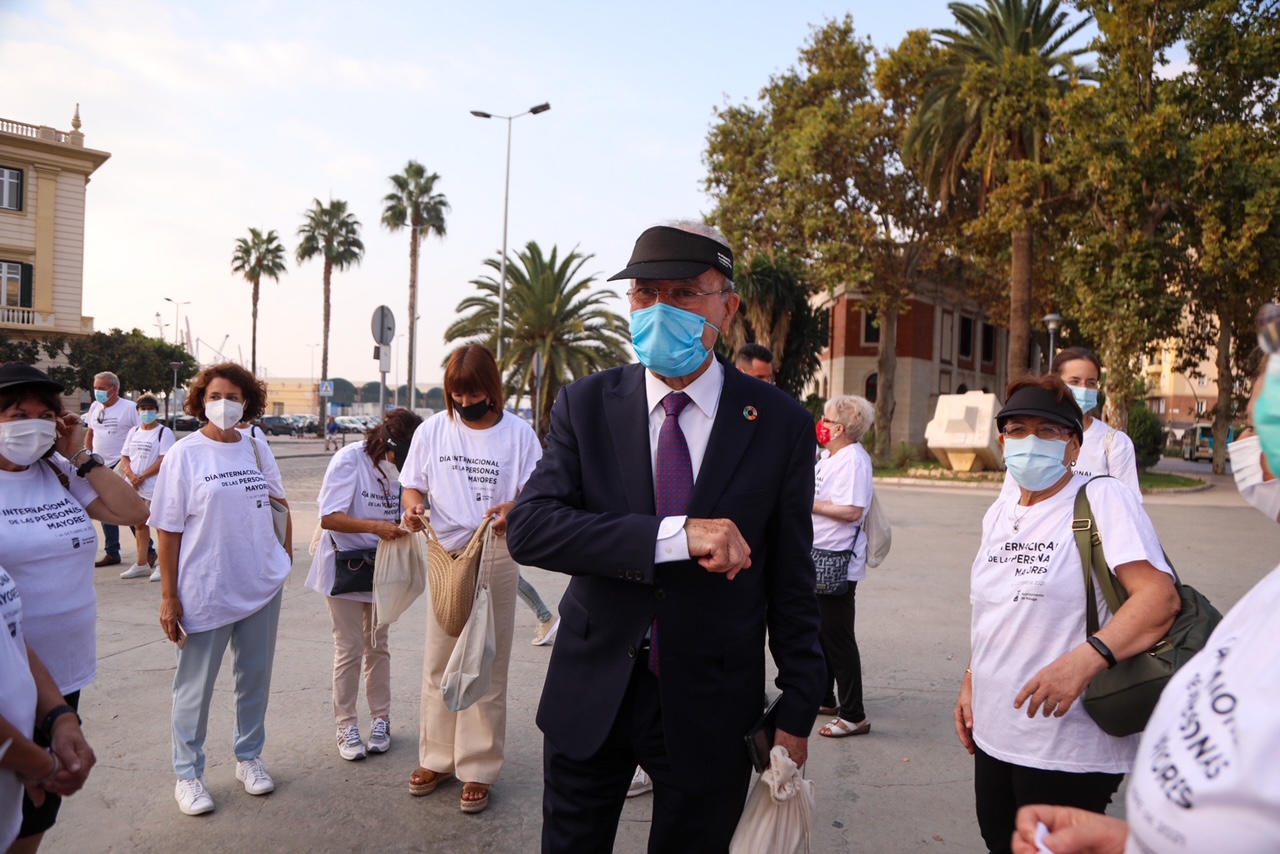
[[[993,854],[1011,850],[1018,809],[1028,804],[1079,807],[1105,813],[1123,773],[1044,771],[1002,762],[975,748],[973,791],[978,830]]]

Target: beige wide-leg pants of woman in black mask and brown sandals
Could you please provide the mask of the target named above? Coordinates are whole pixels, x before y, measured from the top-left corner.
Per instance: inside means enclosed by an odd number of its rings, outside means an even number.
[[[435,621],[435,612],[430,606],[426,609],[419,763],[428,771],[452,772],[463,782],[497,782],[507,740],[507,670],[516,630],[520,567],[507,552],[506,538],[494,536],[490,543],[490,597],[498,654],[493,662],[489,691],[461,712],[451,712],[440,697],[444,667],[449,663],[457,638],[444,634]],[[481,558],[481,572],[489,560],[489,553]]]

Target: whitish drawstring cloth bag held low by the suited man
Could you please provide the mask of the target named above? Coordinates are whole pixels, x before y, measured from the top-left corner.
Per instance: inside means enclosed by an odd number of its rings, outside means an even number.
[[[800,775],[786,748],[774,745],[769,767],[746,799],[730,854],[809,854],[813,800],[813,781]]]

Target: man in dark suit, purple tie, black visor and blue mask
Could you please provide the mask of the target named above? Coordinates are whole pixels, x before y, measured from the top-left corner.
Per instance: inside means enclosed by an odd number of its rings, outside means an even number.
[[[804,764],[826,665],[810,558],[814,425],[710,355],[740,298],[714,229],[648,229],[627,268],[640,365],[561,391],[511,512],[521,563],[572,575],[538,726],[543,850],[611,851],[639,763],[650,851],[724,851],[750,781],[764,640],[776,744]]]

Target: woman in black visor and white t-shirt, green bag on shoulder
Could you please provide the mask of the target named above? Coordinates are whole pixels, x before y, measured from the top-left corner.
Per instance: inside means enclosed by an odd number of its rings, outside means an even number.
[[[1129,599],[1112,616],[1094,585],[1101,629],[1085,630],[1085,588],[1071,521],[1084,479],[1071,474],[1084,431],[1057,376],[1014,380],[996,416],[1019,487],[983,519],[970,581],[972,658],[955,708],[974,757],[978,826],[1007,851],[1018,808],[1052,802],[1103,812],[1133,768],[1138,736],[1103,732],[1076,700],[1094,676],[1165,636],[1180,599],[1134,492],[1102,478],[1088,498],[1107,563]]]

